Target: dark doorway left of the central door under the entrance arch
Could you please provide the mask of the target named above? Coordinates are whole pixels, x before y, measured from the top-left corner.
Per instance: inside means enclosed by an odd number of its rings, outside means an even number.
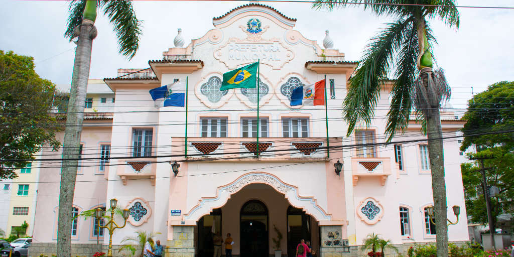
[[[198,221],[198,257],[212,257],[214,253],[213,237],[222,234],[222,210],[214,209]]]

